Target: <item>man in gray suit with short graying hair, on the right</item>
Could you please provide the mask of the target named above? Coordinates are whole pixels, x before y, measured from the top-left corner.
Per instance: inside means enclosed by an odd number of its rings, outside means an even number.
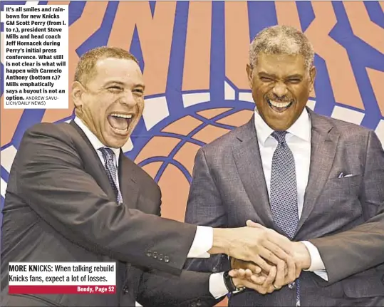
[[[261,31],[249,49],[247,74],[254,115],[197,152],[185,222],[239,227],[250,219],[266,231],[264,246],[279,245],[302,271],[294,283],[276,276],[274,291],[245,290],[229,305],[384,306],[378,137],[306,108],[316,68],[311,43],[295,28]],[[230,267],[255,265],[225,255],[186,265]]]

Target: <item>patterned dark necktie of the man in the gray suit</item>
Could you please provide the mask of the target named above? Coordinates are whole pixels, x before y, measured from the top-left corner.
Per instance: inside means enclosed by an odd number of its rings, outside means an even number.
[[[286,131],[272,133],[279,144],[272,157],[270,202],[275,224],[292,239],[299,224],[299,212],[295,160],[286,144],[286,134]],[[296,280],[296,306],[300,306],[299,279]]]

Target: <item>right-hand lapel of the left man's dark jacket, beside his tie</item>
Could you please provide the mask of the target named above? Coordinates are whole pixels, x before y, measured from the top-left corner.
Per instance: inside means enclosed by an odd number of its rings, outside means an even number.
[[[125,157],[123,150],[120,150],[119,159],[119,182],[120,192],[123,197],[124,204],[130,209],[137,207],[137,197],[139,196],[139,188],[135,181],[135,169],[137,165]]]

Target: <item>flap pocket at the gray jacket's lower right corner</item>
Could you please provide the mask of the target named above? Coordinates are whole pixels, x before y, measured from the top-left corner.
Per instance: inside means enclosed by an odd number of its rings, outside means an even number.
[[[368,298],[384,296],[384,275],[351,278],[342,281],[348,298]]]

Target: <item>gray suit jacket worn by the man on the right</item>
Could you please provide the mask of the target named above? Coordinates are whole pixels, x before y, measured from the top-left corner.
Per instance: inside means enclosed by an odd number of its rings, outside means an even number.
[[[384,152],[374,132],[311,117],[311,166],[294,241],[319,250],[329,281],[301,274],[301,306],[384,306]],[[338,178],[338,175],[351,177]],[[254,118],[197,153],[185,221],[243,227],[247,219],[277,229],[269,207]],[[221,271],[227,256],[187,261],[195,271]],[[294,306],[295,288],[269,295],[239,293],[232,306]]]

